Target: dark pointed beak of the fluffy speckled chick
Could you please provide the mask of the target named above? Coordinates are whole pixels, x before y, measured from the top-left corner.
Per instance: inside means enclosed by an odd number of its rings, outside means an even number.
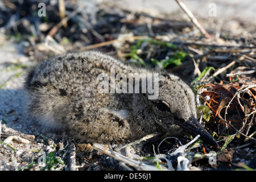
[[[176,124],[181,126],[188,134],[191,135],[200,135],[200,139],[202,139],[204,142],[209,143],[211,146],[216,147],[218,150],[220,150],[220,147],[218,146],[218,143],[216,140],[213,139],[213,137],[208,133],[207,130],[204,129],[204,127],[197,121],[195,117],[189,118],[187,121],[176,121]]]

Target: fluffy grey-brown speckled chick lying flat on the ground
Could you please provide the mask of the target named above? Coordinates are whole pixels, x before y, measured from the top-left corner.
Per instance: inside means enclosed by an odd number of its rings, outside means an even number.
[[[100,52],[73,52],[43,61],[28,73],[27,111],[51,130],[79,142],[135,140],[144,135],[201,134],[217,146],[196,121],[194,94],[172,74],[159,75],[159,96],[148,93],[99,93],[100,73],[153,73],[123,64]]]

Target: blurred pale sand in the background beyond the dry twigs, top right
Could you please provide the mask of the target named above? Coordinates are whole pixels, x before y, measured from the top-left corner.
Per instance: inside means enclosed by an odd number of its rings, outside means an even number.
[[[101,2],[101,1],[97,1]],[[151,13],[162,14],[173,14],[176,12],[181,12],[182,10],[177,5],[175,1],[167,0],[110,0],[110,3],[118,5],[128,10],[133,11],[147,11]],[[234,19],[243,19],[256,24],[254,19],[256,18],[255,9],[256,3],[253,0],[245,1],[221,1],[221,0],[183,0],[182,1],[189,10],[199,19],[207,18],[217,18],[222,20],[234,20]],[[214,3],[214,5],[212,5]],[[209,16],[213,8],[216,7],[216,16]],[[183,16],[182,14],[180,14]],[[184,15],[187,16],[187,15]]]

